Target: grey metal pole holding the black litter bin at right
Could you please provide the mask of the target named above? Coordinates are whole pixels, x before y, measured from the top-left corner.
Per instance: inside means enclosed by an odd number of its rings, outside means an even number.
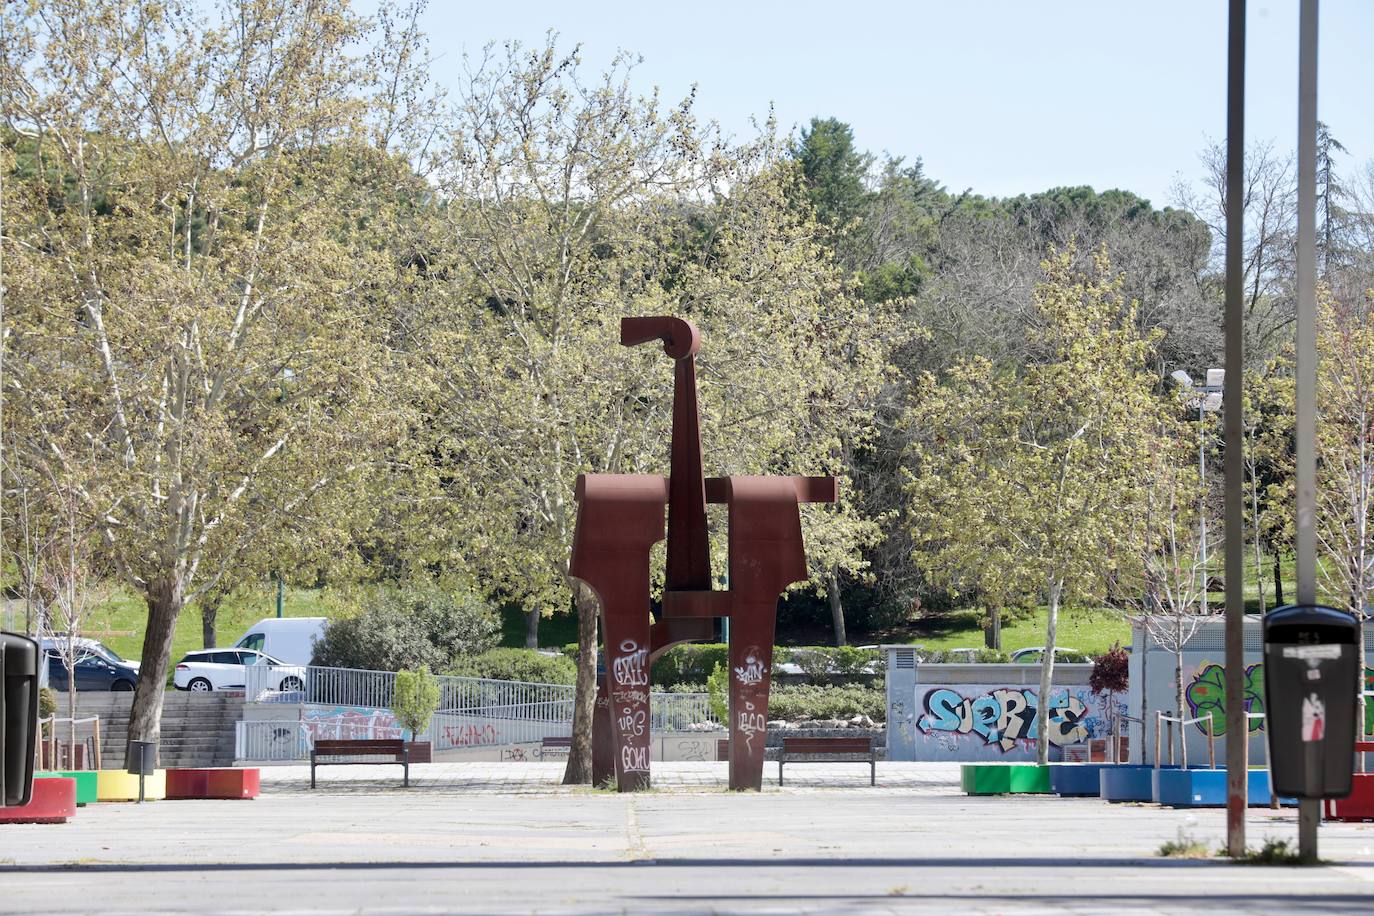
[[[1297,91],[1297,603],[1316,604],[1316,0],[1303,0]],[[1298,858],[1316,861],[1320,802],[1298,802]]]

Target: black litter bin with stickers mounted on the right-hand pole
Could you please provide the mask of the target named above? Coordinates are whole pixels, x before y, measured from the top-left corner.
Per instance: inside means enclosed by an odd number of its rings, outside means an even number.
[[[1270,773],[1279,795],[1351,794],[1359,641],[1359,621],[1333,607],[1287,604],[1264,617]]]

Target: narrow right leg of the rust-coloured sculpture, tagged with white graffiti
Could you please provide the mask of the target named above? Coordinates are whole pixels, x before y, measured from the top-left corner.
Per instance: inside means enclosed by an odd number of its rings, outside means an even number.
[[[760,791],[768,740],[768,689],[778,602],[730,615],[730,788]]]

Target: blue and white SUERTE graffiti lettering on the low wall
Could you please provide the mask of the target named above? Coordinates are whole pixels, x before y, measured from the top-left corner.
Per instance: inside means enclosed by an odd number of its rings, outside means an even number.
[[[1072,694],[1051,698],[1048,742],[1062,747],[1088,740],[1092,729],[1083,698]],[[965,696],[944,687],[926,694],[925,709],[916,728],[926,735],[977,735],[985,744],[998,744],[1003,751],[1037,736],[1036,691],[1030,688],[1002,687]]]

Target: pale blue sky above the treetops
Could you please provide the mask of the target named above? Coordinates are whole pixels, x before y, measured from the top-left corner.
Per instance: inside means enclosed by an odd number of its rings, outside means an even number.
[[[360,11],[375,7],[361,0]],[[959,3],[460,3],[425,16],[434,77],[455,87],[488,41],[580,43],[588,69],[617,51],[665,99],[698,87],[698,113],[745,135],[774,106],[785,129],[849,122],[874,152],[921,157],[951,190],[1061,184],[1169,202],[1175,177],[1223,136],[1224,0]],[[1250,0],[1246,135],[1292,148],[1297,0]],[[1322,3],[1319,117],[1374,158],[1374,0]]]

